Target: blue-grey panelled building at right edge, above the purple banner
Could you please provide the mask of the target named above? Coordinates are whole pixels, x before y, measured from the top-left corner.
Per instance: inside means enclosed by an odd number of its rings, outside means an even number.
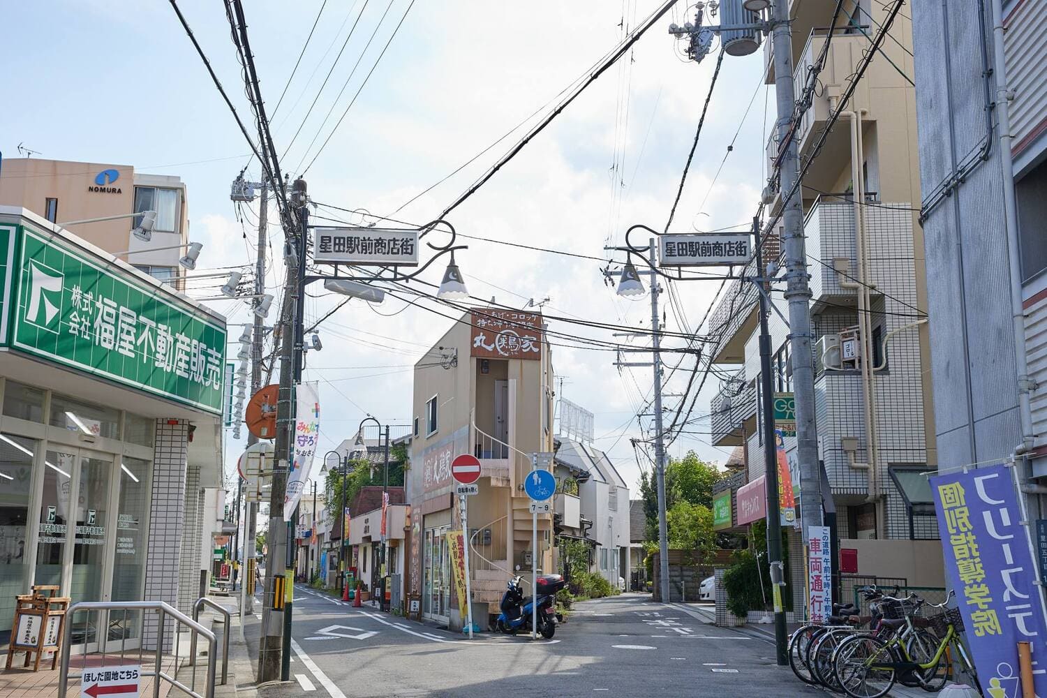
[[[1025,0],[914,3],[942,469],[1015,458],[1047,504],[1047,33]]]

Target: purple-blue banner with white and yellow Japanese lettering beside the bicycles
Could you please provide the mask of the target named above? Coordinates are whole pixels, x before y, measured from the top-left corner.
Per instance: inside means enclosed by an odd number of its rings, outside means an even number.
[[[931,478],[949,582],[985,695],[1021,698],[1018,643],[1032,647],[1033,683],[1047,696],[1047,622],[1029,538],[1004,466]]]

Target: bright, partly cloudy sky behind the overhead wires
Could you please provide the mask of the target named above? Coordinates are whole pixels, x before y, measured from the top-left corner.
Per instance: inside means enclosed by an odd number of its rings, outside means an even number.
[[[244,9],[282,170],[292,178],[304,173],[309,195],[319,204],[421,224],[437,218],[659,4],[302,0],[292,8],[248,0]],[[253,138],[222,3],[181,0],[179,8]],[[605,262],[488,241],[621,263],[621,252],[603,248],[624,244],[626,228],[637,223],[664,228],[716,63],[715,52],[701,63],[688,61],[681,42],[668,33],[670,23],[693,21],[693,10],[686,8],[678,3],[448,217],[459,232],[484,239],[464,241],[469,249],[456,254],[473,295],[516,308],[548,297],[550,315],[650,328],[649,297],[616,296],[604,283]],[[257,160],[249,162],[250,148],[171,4],[50,0],[15,3],[4,16],[18,30],[5,39],[3,157],[18,157],[21,143],[42,158],[177,175],[187,186],[190,239],[203,243],[194,273],[252,265],[259,204],[238,211],[228,194],[241,170],[246,166],[245,177],[257,181],[260,167]],[[774,100],[767,102],[762,76],[762,49],[726,57],[671,231],[708,231],[751,220],[774,121]],[[322,205],[313,212],[317,224],[335,223],[316,217],[363,220]],[[283,232],[275,221],[271,209],[269,237],[280,257]],[[438,262],[423,278],[439,284],[443,267]],[[277,258],[266,275],[270,292],[282,277]],[[188,293],[215,295],[222,283],[193,282]],[[694,332],[718,287],[716,280],[674,284],[683,317],[667,311],[667,330]],[[309,293],[307,322],[342,299],[324,295],[319,285]],[[230,324],[250,319],[242,301],[210,305]],[[394,298],[379,307],[354,300],[320,324],[324,348],[309,353],[305,376],[320,384],[320,452],[351,437],[365,413],[383,423],[410,422],[410,366],[450,327],[438,313],[458,311],[430,301],[405,305]],[[550,329],[611,339],[608,331],[561,320],[550,320]],[[239,333],[230,329],[230,335],[235,341]],[[678,346],[681,340],[665,343]],[[636,413],[651,411],[642,407],[652,395],[652,377],[650,368],[620,370],[615,359],[612,352],[593,346],[553,347],[554,370],[558,381],[562,378],[558,397],[595,413],[595,445],[633,487],[641,467],[650,465],[629,440],[649,436]],[[665,360],[671,367],[677,357]],[[667,393],[683,391],[691,361],[672,374]],[[692,419],[708,414],[719,387],[720,379],[710,375]],[[678,402],[667,398],[666,406],[675,410]],[[708,432],[709,420],[687,429]],[[226,440],[227,464],[245,444]],[[682,434],[669,453],[681,456],[692,449],[720,463],[729,454],[704,433]],[[631,494],[638,496],[636,489]]]

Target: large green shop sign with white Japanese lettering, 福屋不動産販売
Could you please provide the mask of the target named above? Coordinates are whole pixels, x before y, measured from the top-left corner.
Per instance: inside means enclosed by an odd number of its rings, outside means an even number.
[[[12,347],[222,412],[222,324],[61,239],[24,226],[13,231],[20,245],[13,248],[6,283],[14,289],[4,294],[2,309],[5,321],[14,312],[6,337]]]

